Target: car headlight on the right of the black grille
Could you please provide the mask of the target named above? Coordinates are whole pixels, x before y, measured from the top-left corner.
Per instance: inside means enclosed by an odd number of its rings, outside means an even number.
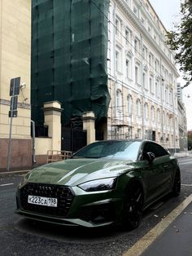
[[[116,188],[116,178],[95,179],[78,185],[86,192],[111,190]]]

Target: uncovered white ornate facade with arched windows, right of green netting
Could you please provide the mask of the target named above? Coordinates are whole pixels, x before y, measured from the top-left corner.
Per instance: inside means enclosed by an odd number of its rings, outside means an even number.
[[[166,29],[148,0],[111,0],[107,137],[179,148],[177,68]]]

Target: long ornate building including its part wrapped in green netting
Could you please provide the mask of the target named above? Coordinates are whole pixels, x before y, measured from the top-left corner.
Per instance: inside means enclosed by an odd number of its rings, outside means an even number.
[[[59,100],[62,126],[93,111],[103,139],[176,151],[178,73],[165,35],[148,0],[33,0],[33,120],[43,124],[43,103]]]

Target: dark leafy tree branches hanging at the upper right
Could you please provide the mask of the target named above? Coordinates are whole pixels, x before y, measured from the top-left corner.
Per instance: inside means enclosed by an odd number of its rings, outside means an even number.
[[[167,43],[176,53],[175,60],[184,73],[185,86],[189,86],[192,82],[192,0],[181,2],[181,22],[168,32]]]

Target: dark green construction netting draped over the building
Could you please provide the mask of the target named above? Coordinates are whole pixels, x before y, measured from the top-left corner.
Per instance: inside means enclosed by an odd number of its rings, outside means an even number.
[[[45,102],[62,104],[62,124],[94,111],[107,117],[108,0],[32,1],[32,118]]]

